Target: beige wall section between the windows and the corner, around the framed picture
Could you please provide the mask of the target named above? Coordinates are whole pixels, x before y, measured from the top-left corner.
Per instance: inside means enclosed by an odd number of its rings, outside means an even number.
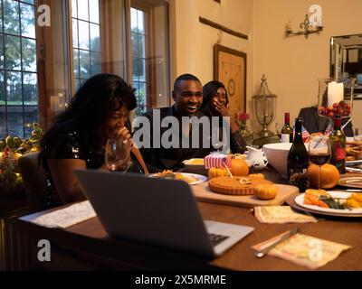
[[[199,22],[199,16],[243,34],[252,30],[252,0],[171,0],[171,63],[176,76],[192,73],[203,84],[213,79],[214,44],[247,54],[247,94],[252,87],[252,42],[219,31]]]

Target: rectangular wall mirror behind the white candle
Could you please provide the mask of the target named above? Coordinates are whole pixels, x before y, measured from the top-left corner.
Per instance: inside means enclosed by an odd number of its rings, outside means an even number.
[[[362,99],[362,34],[330,38],[330,76],[355,78],[355,99]]]

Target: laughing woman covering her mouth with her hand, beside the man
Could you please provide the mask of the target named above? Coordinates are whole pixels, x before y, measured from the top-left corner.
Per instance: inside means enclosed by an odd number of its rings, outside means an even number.
[[[223,126],[223,117],[228,119],[230,127],[230,149],[233,153],[246,151],[243,136],[239,133],[239,126],[229,112],[229,98],[224,84],[217,80],[209,81],[203,87],[203,103],[200,111],[206,117],[219,117],[219,126]]]

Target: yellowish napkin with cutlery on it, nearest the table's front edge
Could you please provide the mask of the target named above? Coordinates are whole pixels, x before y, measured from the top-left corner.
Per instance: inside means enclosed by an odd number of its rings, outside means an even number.
[[[288,231],[265,242],[259,243],[253,246],[252,249],[261,251],[263,248],[269,247],[273,242],[287,233]],[[327,263],[337,258],[340,253],[349,248],[351,247],[348,245],[297,233],[292,235],[291,238],[281,242],[278,246],[273,247],[268,252],[268,255],[277,256],[310,269],[317,269],[321,266],[325,266]]]

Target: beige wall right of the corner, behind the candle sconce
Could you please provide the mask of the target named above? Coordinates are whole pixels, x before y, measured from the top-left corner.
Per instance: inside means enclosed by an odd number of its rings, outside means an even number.
[[[285,25],[291,21],[299,30],[310,5],[322,8],[319,34],[284,37]],[[317,103],[318,80],[329,76],[329,39],[331,36],[361,33],[361,0],[254,0],[253,1],[253,88],[259,85],[262,73],[268,78],[271,91],[278,95],[276,122],[283,122],[283,113],[297,117],[300,107]],[[250,97],[250,96],[249,96]],[[362,126],[362,101],[355,102],[352,120]],[[271,129],[274,126],[271,125]]]

